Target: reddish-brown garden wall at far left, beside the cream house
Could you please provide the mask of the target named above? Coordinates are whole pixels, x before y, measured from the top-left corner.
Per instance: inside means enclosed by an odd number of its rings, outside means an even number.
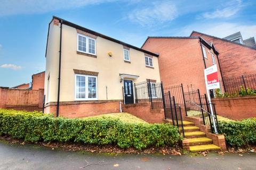
[[[0,108],[42,111],[44,89],[19,90],[0,87]]]

